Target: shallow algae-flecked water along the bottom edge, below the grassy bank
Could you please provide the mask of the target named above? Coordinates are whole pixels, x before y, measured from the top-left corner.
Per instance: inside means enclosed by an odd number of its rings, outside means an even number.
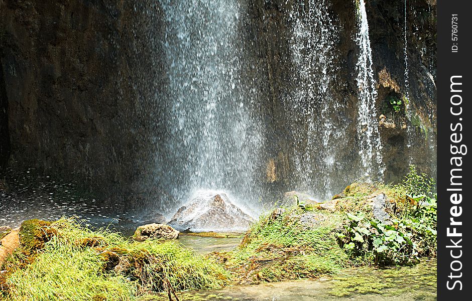
[[[436,261],[425,260],[414,267],[348,269],[318,280],[235,285],[222,290],[180,292],[178,296],[181,301],[436,300]],[[166,298],[147,296],[141,300]]]

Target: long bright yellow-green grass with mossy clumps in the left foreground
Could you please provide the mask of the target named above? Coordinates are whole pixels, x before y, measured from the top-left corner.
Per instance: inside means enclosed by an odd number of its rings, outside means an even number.
[[[33,255],[20,248],[8,259],[0,279],[4,300],[132,300],[227,281],[220,265],[174,241],[130,241],[65,218],[48,227],[56,234],[44,247]]]

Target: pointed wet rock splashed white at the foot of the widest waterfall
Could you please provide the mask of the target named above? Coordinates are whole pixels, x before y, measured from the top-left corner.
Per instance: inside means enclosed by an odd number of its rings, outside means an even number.
[[[231,203],[224,193],[197,193],[169,222],[180,230],[193,232],[244,232],[253,218]]]

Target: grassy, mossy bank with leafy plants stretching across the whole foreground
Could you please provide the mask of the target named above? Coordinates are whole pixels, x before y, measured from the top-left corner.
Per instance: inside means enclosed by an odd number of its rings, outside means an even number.
[[[325,203],[275,208],[237,248],[206,256],[178,239],[139,242],[74,218],[29,220],[2,266],[2,298],[110,301],[160,292],[173,298],[184,290],[313,279],[358,266],[415,265],[436,256],[434,185],[414,167],[395,186],[357,181]]]

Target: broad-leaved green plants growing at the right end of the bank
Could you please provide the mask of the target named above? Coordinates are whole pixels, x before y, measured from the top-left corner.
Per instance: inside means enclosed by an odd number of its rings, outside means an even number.
[[[383,224],[364,213],[347,213],[338,234],[348,254],[375,264],[411,264],[436,254],[436,200],[422,197],[410,215]]]

